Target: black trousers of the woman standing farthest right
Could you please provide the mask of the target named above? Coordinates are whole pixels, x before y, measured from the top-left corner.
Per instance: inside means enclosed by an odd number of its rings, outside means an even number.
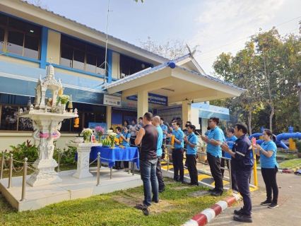
[[[278,172],[278,167],[275,168],[261,168],[261,175],[264,177],[264,184],[266,184],[266,200],[273,201],[273,203],[278,202],[278,186],[276,181],[276,174]],[[273,191],[273,199],[272,199]]]

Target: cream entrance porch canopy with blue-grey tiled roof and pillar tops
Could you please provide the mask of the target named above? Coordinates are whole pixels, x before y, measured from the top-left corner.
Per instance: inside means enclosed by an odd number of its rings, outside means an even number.
[[[191,102],[238,97],[245,90],[207,76],[190,54],[165,64],[145,69],[103,87],[107,93],[122,92],[122,97],[138,95],[138,117],[148,112],[148,93],[168,97],[168,105],[182,104],[183,121],[189,119]],[[186,113],[185,113],[186,112]]]

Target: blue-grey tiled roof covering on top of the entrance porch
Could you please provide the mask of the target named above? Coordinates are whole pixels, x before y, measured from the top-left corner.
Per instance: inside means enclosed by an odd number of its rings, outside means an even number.
[[[208,78],[208,79],[210,79],[211,81],[216,81],[217,83],[222,83],[222,84],[228,85],[228,86],[230,86],[230,87],[232,87],[232,88],[236,88],[236,89],[238,89],[238,90],[246,91],[246,90],[244,90],[243,88],[239,88],[239,87],[237,87],[236,85],[232,85],[231,83],[227,83],[227,82],[225,82],[225,81],[221,81],[221,80],[219,80],[218,78],[214,78],[214,77],[208,76],[208,75],[202,75],[201,73],[198,73],[198,72],[196,72],[196,71],[191,71],[191,70],[186,69],[186,68],[184,68],[184,67],[182,67],[182,66],[177,66],[177,65],[176,65],[176,63],[178,63],[178,62],[180,62],[180,61],[183,61],[184,59],[187,59],[187,58],[191,58],[191,55],[190,55],[190,54],[187,54],[187,55],[184,55],[183,57],[179,57],[179,58],[174,59],[174,60],[172,60],[172,61],[168,61],[167,63],[160,64],[159,66],[155,66],[155,67],[153,67],[153,68],[151,68],[151,69],[146,69],[146,70],[140,71],[140,72],[138,72],[138,73],[135,73],[135,74],[133,74],[133,75],[131,75],[131,76],[126,76],[125,78],[122,78],[122,79],[119,79],[118,81],[115,81],[115,82],[113,82],[113,83],[104,85],[103,87],[104,87],[105,89],[112,88],[112,87],[114,87],[114,86],[116,86],[116,85],[121,85],[121,84],[123,84],[123,83],[127,83],[127,82],[129,82],[129,81],[132,81],[132,80],[134,80],[134,79],[136,79],[136,78],[141,78],[141,77],[143,77],[143,76],[147,76],[148,74],[151,74],[151,73],[154,73],[154,72],[163,70],[163,69],[165,69],[165,68],[167,68],[167,67],[169,66],[171,69],[175,69],[175,68],[177,67],[178,69],[182,69],[183,71],[187,71],[187,72],[190,72],[190,73],[194,73],[196,76],[201,76],[201,77],[203,77],[203,78]]]

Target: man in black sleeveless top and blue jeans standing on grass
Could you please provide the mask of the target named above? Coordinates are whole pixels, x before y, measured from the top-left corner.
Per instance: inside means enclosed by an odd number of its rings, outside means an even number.
[[[148,206],[151,202],[159,202],[159,187],[158,179],[156,176],[157,165],[157,142],[158,142],[158,129],[151,124],[153,114],[146,112],[143,116],[143,127],[138,131],[135,144],[141,143],[140,160],[140,173],[143,181],[144,200],[137,203],[135,208],[143,210],[145,215],[148,215]],[[153,191],[153,198],[151,193]]]

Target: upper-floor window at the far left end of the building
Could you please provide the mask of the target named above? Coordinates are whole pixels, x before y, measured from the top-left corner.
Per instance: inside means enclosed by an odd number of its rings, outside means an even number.
[[[41,28],[0,13],[0,51],[40,59]]]

